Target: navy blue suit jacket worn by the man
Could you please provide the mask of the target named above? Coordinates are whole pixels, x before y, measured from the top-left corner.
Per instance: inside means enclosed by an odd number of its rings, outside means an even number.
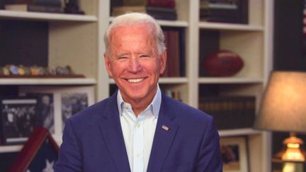
[[[55,171],[130,172],[119,117],[117,93],[70,117]],[[164,94],[147,167],[158,171],[222,171],[212,117]]]

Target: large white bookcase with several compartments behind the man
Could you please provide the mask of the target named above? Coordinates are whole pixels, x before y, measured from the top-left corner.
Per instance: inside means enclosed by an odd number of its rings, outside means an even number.
[[[47,21],[49,23],[49,64],[69,64],[86,79],[0,79],[1,85],[95,85],[96,101],[109,96],[110,79],[104,65],[103,34],[109,22],[111,1],[80,0],[85,16],[30,13],[0,10],[0,20]],[[268,73],[271,70],[273,1],[249,0],[249,24],[208,23],[199,21],[199,0],[176,0],[178,21],[162,21],[163,27],[179,27],[186,35],[186,76],[161,78],[161,88],[181,91],[184,103],[198,107],[202,86],[218,84],[221,94],[254,95],[256,105]],[[244,60],[244,68],[232,77],[204,77],[199,75],[201,30],[220,33],[220,47],[234,50]],[[1,34],[1,33],[0,33]],[[268,172],[271,169],[271,136],[253,129],[220,130],[221,137],[246,136],[249,142],[251,172]],[[0,147],[0,152],[18,151],[21,146]]]

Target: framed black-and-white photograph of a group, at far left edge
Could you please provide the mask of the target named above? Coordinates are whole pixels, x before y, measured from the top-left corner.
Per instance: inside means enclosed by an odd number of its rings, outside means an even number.
[[[1,144],[21,144],[28,140],[37,125],[35,98],[1,99]]]

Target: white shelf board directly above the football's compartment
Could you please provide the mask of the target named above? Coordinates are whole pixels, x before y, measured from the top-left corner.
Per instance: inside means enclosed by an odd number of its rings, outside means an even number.
[[[262,26],[258,25],[245,25],[245,24],[232,24],[232,23],[212,23],[200,22],[199,28],[214,29],[214,30],[245,30],[245,31],[263,31]]]

